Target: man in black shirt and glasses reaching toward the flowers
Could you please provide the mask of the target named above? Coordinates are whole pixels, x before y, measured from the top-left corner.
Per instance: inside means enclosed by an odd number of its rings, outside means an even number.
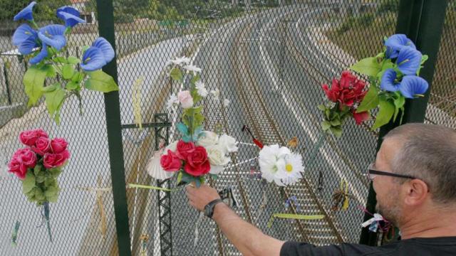
[[[381,247],[276,240],[224,203],[208,205],[219,198],[214,188],[187,187],[187,197],[197,210],[206,206],[205,213],[244,255],[456,255],[455,130],[430,124],[397,127],[385,136],[370,167],[378,212],[402,235]]]

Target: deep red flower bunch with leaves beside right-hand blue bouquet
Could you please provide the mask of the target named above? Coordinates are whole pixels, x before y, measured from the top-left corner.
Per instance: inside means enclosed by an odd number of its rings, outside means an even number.
[[[358,112],[358,105],[366,95],[367,83],[360,80],[350,71],[343,71],[340,79],[333,79],[331,87],[322,85],[323,91],[330,102],[318,105],[323,111],[323,132],[330,132],[337,138],[342,136],[343,122],[347,117],[353,117],[356,124],[369,119],[368,111]]]

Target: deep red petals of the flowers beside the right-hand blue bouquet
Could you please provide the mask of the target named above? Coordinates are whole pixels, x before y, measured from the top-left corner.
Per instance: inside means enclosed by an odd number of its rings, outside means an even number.
[[[364,90],[366,85],[366,82],[359,80],[349,71],[343,71],[340,80],[333,79],[331,88],[328,85],[322,85],[322,88],[331,102],[340,102],[340,107],[343,105],[353,107],[366,95],[367,91]]]

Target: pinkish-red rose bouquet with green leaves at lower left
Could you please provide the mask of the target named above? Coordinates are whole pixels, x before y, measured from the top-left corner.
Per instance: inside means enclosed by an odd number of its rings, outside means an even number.
[[[57,178],[70,158],[68,143],[63,138],[49,139],[42,129],[21,132],[19,140],[25,147],[18,149],[11,157],[9,172],[16,174],[22,181],[22,191],[28,201],[43,206],[49,239],[52,241],[49,202],[56,202],[58,198]]]

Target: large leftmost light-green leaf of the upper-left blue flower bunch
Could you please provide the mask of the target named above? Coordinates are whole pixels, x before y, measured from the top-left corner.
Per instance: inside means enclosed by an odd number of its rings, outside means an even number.
[[[36,105],[36,102],[43,96],[43,85],[47,73],[47,68],[37,68],[36,65],[32,65],[25,73],[24,86],[28,96],[28,107]]]

